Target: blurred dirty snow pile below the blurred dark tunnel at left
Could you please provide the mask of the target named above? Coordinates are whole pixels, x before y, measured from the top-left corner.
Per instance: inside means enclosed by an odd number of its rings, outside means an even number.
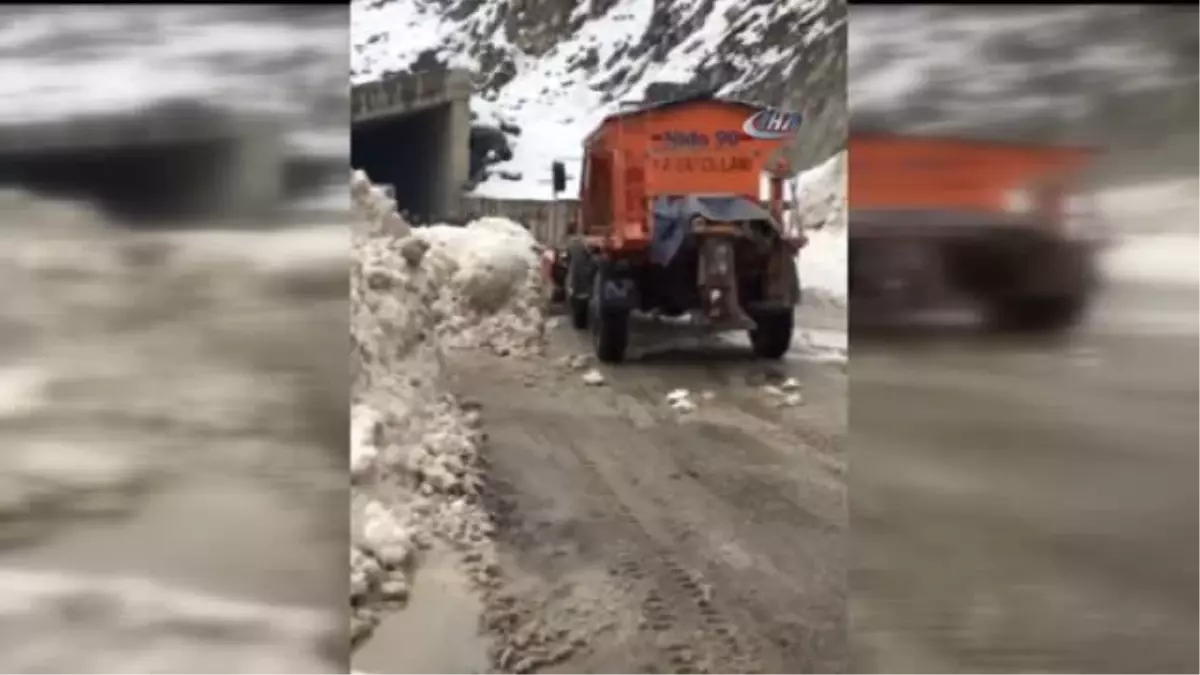
[[[265,444],[253,453],[228,448],[230,441],[287,435],[308,436],[305,448],[312,446],[314,419],[295,407],[311,376],[298,368],[311,365],[312,354],[290,341],[287,324],[330,323],[336,315],[320,315],[344,303],[344,273],[340,287],[322,280],[326,295],[314,299],[292,283],[319,286],[310,282],[328,276],[328,264],[265,275],[245,258],[193,256],[166,237],[122,234],[85,207],[19,192],[0,193],[0,213],[2,318],[10,335],[0,389],[30,396],[10,408],[20,417],[10,429],[19,437],[0,453],[0,472],[54,471],[53,483],[62,484],[66,498],[88,476],[112,489],[116,476],[144,478],[144,471],[118,466],[152,465],[173,442],[186,450],[178,458],[185,465],[187,456],[206,454],[211,461],[211,453],[224,452],[241,466],[296,467],[304,453],[282,458]],[[344,258],[337,261],[343,265]],[[72,419],[76,435],[55,422],[62,416]],[[168,438],[163,425],[172,429]],[[104,438],[118,431],[122,440],[106,447]],[[226,441],[197,443],[186,438],[192,434]],[[77,436],[91,441],[80,448]],[[221,449],[208,449],[214,444]],[[331,454],[312,449],[326,461]],[[94,460],[79,456],[85,450]],[[34,483],[25,485],[28,491]],[[49,485],[38,482],[37,489]]]

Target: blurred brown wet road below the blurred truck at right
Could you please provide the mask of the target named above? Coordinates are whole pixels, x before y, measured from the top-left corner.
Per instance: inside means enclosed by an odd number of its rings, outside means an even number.
[[[1122,283],[1066,341],[856,333],[854,673],[1200,671],[1198,307]]]

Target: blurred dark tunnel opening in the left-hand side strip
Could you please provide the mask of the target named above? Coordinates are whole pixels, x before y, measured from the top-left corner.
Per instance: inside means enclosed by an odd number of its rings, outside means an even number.
[[[96,204],[138,228],[170,227],[217,208],[215,180],[230,141],[206,139],[112,149],[55,149],[0,155],[0,185]]]

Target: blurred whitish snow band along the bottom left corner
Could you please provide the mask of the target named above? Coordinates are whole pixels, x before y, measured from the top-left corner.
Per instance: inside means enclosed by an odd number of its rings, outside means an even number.
[[[0,665],[12,675],[331,675],[344,652],[325,613],[140,579],[0,569]]]

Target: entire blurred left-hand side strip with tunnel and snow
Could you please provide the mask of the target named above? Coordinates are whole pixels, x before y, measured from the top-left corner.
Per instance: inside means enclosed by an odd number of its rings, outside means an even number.
[[[344,670],[348,22],[0,10],[0,671]]]

